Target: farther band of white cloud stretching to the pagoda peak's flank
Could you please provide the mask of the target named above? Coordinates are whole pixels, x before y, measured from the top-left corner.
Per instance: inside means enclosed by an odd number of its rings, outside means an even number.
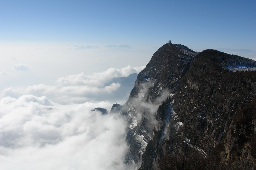
[[[113,77],[124,77],[131,73],[138,73],[145,68],[127,66],[121,69],[109,68],[100,73],[86,76],[84,73],[59,78],[55,85],[32,85],[27,88],[7,88],[1,92],[0,97],[18,98],[23,94],[47,96],[48,99],[61,104],[83,103],[90,100],[100,100],[104,95],[115,92],[120,88],[119,83],[105,85]],[[130,89],[132,90],[132,89]],[[110,100],[114,100],[113,98]]]

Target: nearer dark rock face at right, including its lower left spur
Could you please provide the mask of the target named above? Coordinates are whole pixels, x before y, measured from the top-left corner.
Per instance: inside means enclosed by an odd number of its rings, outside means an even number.
[[[156,119],[164,110],[172,113],[168,128],[162,128],[164,137],[154,136],[154,145],[146,147],[140,169],[157,165],[162,156],[172,152],[173,141],[214,154],[228,165],[255,166],[256,73],[229,72],[234,61],[248,67],[256,63],[216,50],[194,57],[180,78],[174,99],[158,108]]]

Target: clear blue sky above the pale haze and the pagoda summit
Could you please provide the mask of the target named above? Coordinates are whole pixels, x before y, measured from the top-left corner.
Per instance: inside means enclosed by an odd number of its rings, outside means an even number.
[[[255,1],[1,1],[1,42],[256,50]]]

